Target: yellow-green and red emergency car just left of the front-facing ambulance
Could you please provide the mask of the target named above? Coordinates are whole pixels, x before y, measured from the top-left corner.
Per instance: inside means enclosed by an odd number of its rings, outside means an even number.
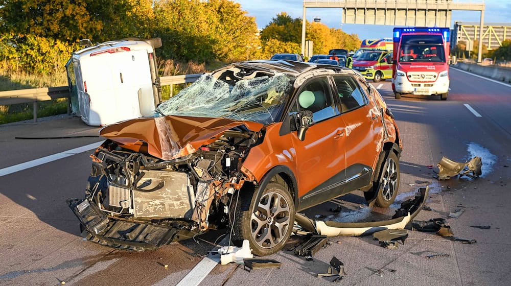
[[[353,62],[353,69],[374,82],[390,79],[392,78],[392,52],[365,51]]]

